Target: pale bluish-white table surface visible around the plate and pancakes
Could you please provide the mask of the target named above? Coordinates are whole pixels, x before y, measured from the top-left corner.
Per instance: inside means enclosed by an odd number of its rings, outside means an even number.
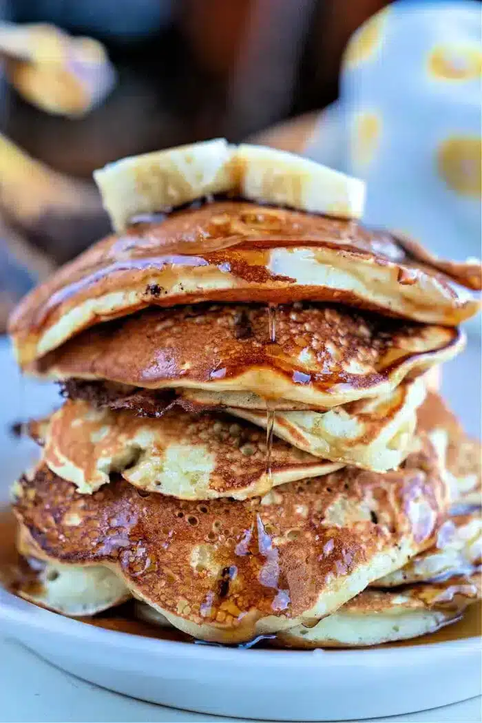
[[[480,337],[469,338],[465,353],[445,365],[442,382],[445,397],[473,435],[480,434],[481,429],[480,348]],[[22,466],[30,462],[25,462],[23,448],[21,450],[12,440],[7,427],[19,419],[45,414],[55,403],[56,396],[50,385],[20,380],[7,341],[1,337],[0,380],[0,459],[3,475],[7,478],[0,479],[3,484],[14,479]],[[0,638],[0,723],[208,720],[221,719],[155,706],[97,688],[51,666],[18,643]],[[384,720],[481,723],[481,699],[472,698],[433,711],[377,719]]]

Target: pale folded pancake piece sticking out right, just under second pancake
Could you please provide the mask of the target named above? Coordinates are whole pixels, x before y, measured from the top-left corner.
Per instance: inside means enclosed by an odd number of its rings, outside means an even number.
[[[390,395],[363,399],[326,412],[278,411],[273,432],[298,449],[332,461],[385,472],[405,458],[426,394],[423,379],[403,382]],[[266,412],[228,408],[267,427]]]

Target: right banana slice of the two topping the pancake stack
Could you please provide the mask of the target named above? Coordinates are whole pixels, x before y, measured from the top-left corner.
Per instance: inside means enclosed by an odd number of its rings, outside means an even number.
[[[365,184],[294,153],[261,145],[240,145],[241,196],[311,213],[360,218]]]

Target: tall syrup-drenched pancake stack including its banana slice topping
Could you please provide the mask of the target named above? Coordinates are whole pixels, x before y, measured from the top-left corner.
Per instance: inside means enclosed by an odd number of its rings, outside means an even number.
[[[221,643],[458,619],[480,594],[480,448],[436,372],[478,265],[366,230],[356,179],[269,149],[97,179],[117,233],[10,324],[20,367],[65,397],[30,423],[42,457],[14,486],[36,570],[19,593],[66,615],[135,599]]]

